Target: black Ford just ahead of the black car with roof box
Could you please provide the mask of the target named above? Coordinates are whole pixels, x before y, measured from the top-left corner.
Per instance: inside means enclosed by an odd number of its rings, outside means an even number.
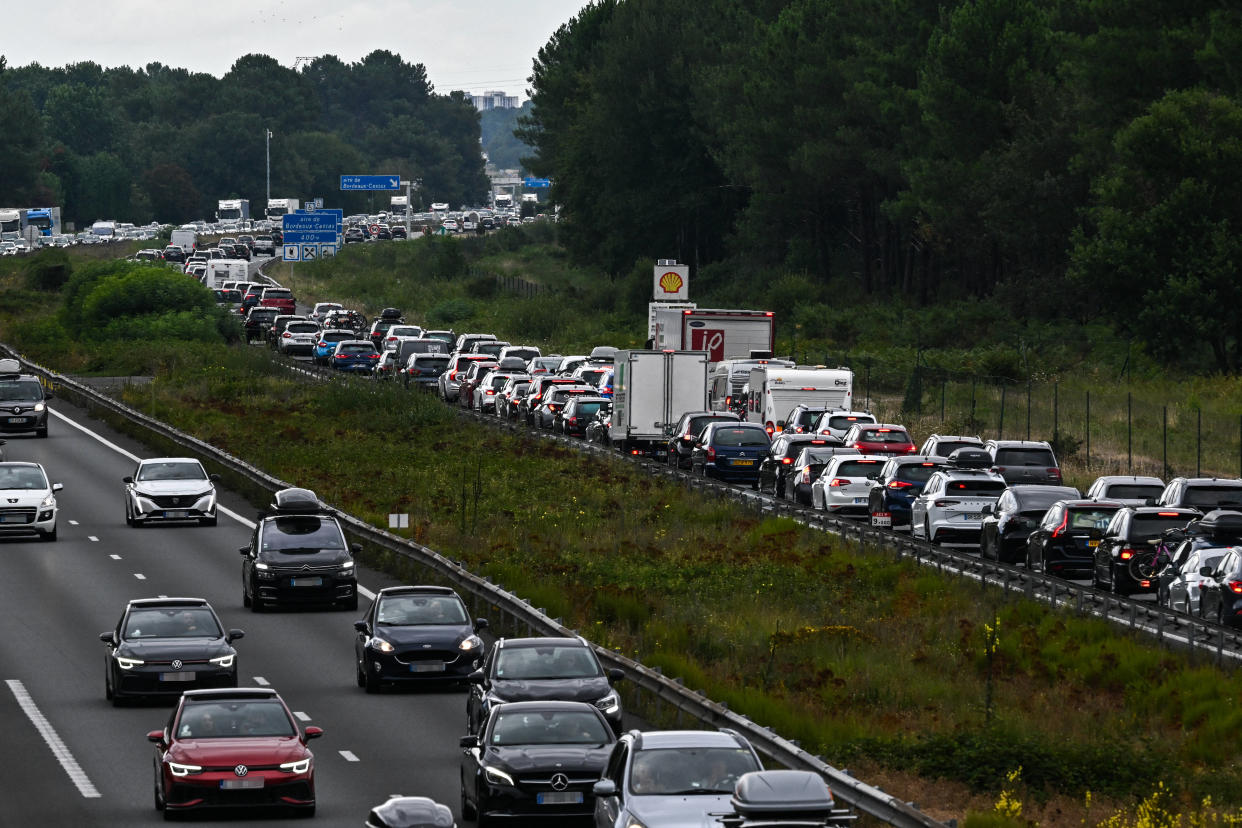
[[[473,622],[466,605],[443,586],[390,586],[380,590],[366,616],[354,622],[358,686],[375,693],[383,684],[458,682],[478,669],[487,619]]]

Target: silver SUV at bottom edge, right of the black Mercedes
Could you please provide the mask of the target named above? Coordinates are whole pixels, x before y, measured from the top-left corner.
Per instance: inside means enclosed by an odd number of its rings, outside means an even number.
[[[729,808],[759,755],[733,730],[631,730],[595,783],[595,828],[699,826]]]

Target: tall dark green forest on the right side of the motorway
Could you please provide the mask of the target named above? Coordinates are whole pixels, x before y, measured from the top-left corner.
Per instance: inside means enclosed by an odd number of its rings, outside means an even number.
[[[1237,371],[1240,84],[1233,4],[595,0],[519,132],[614,273],[986,297]]]

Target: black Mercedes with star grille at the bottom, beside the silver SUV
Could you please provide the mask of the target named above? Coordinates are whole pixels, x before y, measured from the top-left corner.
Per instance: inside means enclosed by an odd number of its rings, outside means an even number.
[[[494,706],[461,740],[462,816],[479,828],[496,817],[589,819],[615,741],[604,714],[582,701]]]

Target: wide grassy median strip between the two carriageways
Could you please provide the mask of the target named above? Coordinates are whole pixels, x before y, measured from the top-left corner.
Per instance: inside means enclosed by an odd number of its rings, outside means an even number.
[[[43,324],[0,317],[36,359]],[[416,540],[938,817],[1094,823],[1156,782],[1174,812],[1242,804],[1242,680],[1107,623],[476,427],[400,386],[301,381],[261,348],[94,350],[70,341],[52,361],[142,364],[155,380],[129,405],[376,525],[409,513]],[[994,809],[1002,791],[1026,809]]]

